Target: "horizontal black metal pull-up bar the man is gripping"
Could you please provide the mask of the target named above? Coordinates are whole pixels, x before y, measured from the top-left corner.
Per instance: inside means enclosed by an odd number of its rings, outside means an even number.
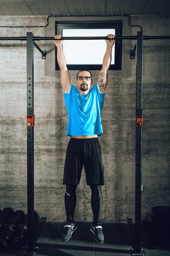
[[[0,37],[0,40],[20,40],[20,41],[26,41],[26,36],[20,36],[20,37]],[[76,37],[62,37],[60,39],[55,39],[54,37],[40,37],[40,36],[33,36],[33,41],[40,41],[40,40],[107,40],[107,36],[76,36]],[[137,36],[116,36],[112,39],[119,39],[119,40],[137,40]],[[150,40],[150,39],[170,39],[170,36],[143,36],[143,40]]]

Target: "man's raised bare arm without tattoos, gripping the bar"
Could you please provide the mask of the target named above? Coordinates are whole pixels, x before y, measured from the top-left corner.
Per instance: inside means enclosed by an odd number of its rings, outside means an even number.
[[[60,39],[61,35],[55,35],[54,38]],[[66,58],[62,49],[63,40],[54,40],[54,44],[57,47],[57,62],[60,67],[60,80],[62,89],[64,92],[68,93],[70,90],[71,80],[66,65]]]

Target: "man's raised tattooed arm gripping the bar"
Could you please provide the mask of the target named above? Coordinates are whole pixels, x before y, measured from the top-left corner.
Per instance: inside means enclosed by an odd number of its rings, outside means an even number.
[[[114,38],[115,35],[109,34],[108,38]],[[110,68],[110,63],[112,60],[112,47],[115,43],[115,40],[106,40],[107,48],[106,53],[103,58],[102,70],[100,71],[98,78],[98,85],[101,93],[104,93],[106,90],[106,86],[108,84],[108,70]]]

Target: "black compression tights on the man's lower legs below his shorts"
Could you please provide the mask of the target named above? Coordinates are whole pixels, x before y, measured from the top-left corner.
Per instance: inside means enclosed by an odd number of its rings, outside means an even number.
[[[93,211],[93,224],[100,222],[100,215],[102,210],[102,190],[101,186],[97,184],[91,185],[91,207]],[[76,188],[77,185],[66,185],[65,193],[65,207],[67,221],[74,223],[74,210],[76,206]]]

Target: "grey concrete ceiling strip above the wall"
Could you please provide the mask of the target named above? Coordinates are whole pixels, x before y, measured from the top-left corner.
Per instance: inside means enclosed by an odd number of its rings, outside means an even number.
[[[0,16],[170,14],[170,0],[0,0]]]

